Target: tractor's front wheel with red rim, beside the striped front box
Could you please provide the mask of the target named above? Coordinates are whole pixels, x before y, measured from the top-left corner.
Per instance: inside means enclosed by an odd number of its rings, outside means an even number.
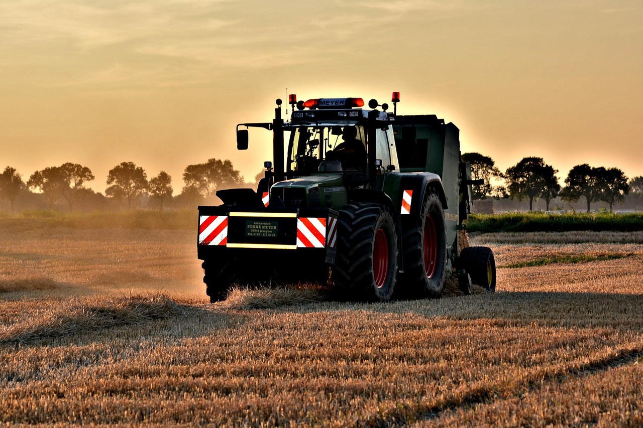
[[[349,204],[340,210],[332,279],[358,301],[388,301],[395,289],[397,235],[391,214],[379,204]]]

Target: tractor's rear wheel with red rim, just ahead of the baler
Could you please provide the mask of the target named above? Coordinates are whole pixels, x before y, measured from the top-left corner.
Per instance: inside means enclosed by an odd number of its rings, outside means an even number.
[[[411,214],[413,215],[413,214]],[[446,276],[446,225],[440,197],[427,188],[419,215],[402,236],[404,273],[400,274],[400,297],[439,298]]]

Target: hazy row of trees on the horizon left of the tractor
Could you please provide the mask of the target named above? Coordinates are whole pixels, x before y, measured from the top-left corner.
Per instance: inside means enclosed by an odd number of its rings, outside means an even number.
[[[0,174],[0,199],[8,201],[12,213],[15,204],[23,197],[29,206],[42,206],[49,210],[66,206],[72,211],[79,202],[92,201],[93,208],[124,208],[128,210],[147,200],[148,206],[163,210],[168,201],[175,206],[195,206],[205,199],[212,198],[217,189],[244,184],[238,170],[231,161],[208,159],[205,163],[188,165],[183,172],[185,186],[179,195],[173,196],[172,177],[165,171],[150,179],[145,170],[133,162],[122,162],[109,170],[105,195],[87,188],[89,181],[95,180],[87,166],[78,163],[64,163],[48,166],[34,172],[24,181],[23,176],[12,166],[6,166]],[[38,201],[38,200],[41,201]]]

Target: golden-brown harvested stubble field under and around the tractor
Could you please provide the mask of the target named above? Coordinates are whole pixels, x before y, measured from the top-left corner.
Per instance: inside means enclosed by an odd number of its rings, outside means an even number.
[[[643,424],[628,233],[475,236],[495,294],[210,305],[193,231],[33,224],[0,231],[3,423]]]

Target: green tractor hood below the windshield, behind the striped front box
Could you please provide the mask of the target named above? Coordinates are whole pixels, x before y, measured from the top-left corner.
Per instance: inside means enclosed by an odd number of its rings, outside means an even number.
[[[341,208],[346,187],[341,174],[318,174],[273,184],[270,197],[279,197],[289,208]]]

